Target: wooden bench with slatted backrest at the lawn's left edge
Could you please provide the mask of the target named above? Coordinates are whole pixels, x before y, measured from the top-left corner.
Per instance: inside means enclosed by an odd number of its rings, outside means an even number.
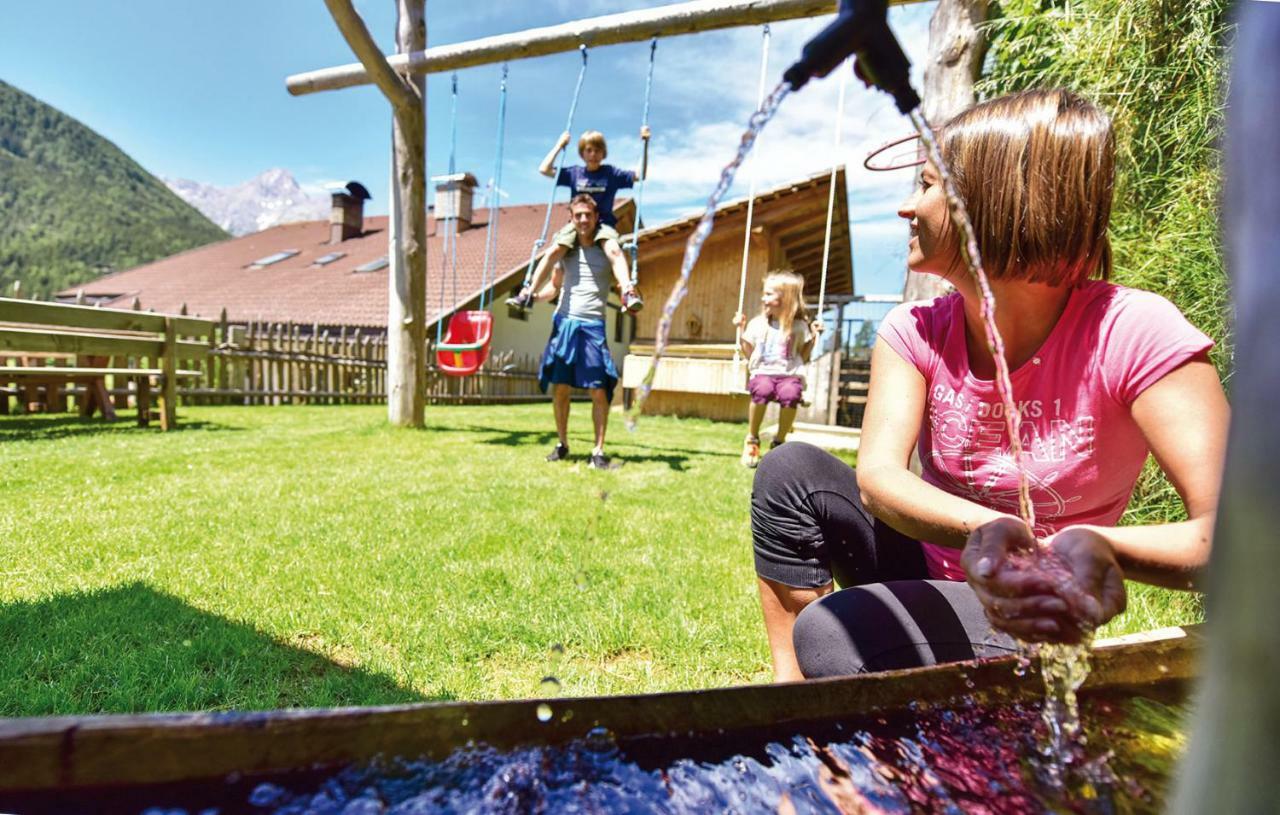
[[[152,384],[160,395],[160,427],[177,423],[178,380],[201,376],[180,367],[202,361],[212,344],[214,322],[198,317],[159,315],[67,303],[0,297],[0,388],[46,388],[46,400],[59,386],[82,385],[81,413],[101,407],[114,417],[105,379],[134,383],[138,425],[151,418]],[[0,394],[8,399],[8,394]]]

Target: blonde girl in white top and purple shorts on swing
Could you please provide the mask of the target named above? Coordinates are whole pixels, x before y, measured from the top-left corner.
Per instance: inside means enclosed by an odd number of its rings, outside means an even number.
[[[822,334],[822,320],[809,324],[804,310],[804,278],[790,271],[774,271],[764,278],[760,313],[746,321],[733,316],[741,330],[739,344],[748,358],[748,385],[751,407],[749,429],[742,443],[742,464],[760,463],[760,423],[769,402],[778,403],[778,432],[769,449],[787,440],[796,421],[796,407],[804,397],[801,367],[809,361],[814,340]]]

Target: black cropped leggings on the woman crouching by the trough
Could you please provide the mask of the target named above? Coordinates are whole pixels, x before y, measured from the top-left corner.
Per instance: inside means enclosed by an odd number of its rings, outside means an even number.
[[[863,507],[854,470],[788,441],[760,461],[751,489],[755,573],[800,589],[841,591],[796,619],[805,677],[832,677],[998,656],[1015,650],[960,581],[929,580],[920,542]]]

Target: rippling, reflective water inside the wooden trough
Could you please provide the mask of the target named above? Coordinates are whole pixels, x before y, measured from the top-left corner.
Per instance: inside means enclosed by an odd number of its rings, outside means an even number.
[[[1030,743],[1037,711],[1012,705],[883,714],[850,722],[847,734],[823,731],[769,743],[735,738],[703,747],[689,742],[639,755],[632,755],[632,742],[595,727],[563,746],[470,745],[443,760],[383,759],[323,780],[273,779],[246,797],[264,815],[776,815],[783,798],[794,806],[786,811],[804,814],[1160,811],[1166,780],[1185,748],[1185,708],[1125,693],[1094,697],[1085,713],[1092,742],[1115,746],[1124,780],[1112,775],[1091,784],[1075,775],[1064,786],[1046,784]],[[652,740],[641,741],[652,746]]]

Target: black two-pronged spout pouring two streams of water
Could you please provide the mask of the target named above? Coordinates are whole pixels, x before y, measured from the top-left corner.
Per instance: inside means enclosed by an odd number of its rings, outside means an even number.
[[[835,22],[805,44],[800,59],[782,78],[799,91],[809,79],[826,77],[850,56],[854,72],[893,97],[908,114],[920,106],[911,87],[911,63],[888,27],[888,0],[840,0]]]

